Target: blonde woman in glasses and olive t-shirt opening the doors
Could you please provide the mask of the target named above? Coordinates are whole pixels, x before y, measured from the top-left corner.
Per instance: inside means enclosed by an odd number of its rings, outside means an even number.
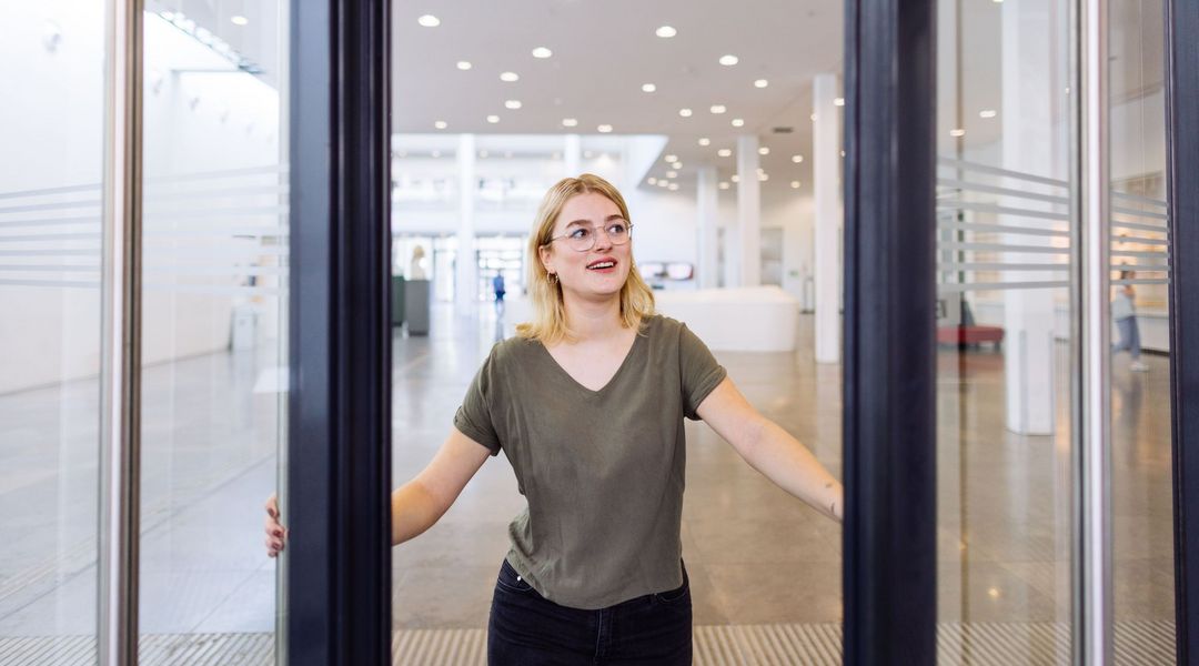
[[[400,544],[433,526],[489,455],[512,464],[529,505],[495,583],[492,665],[691,664],[683,417],[840,520],[840,484],[683,323],[653,313],[632,226],[598,176],[550,188],[529,243],[534,321],[495,345],[441,449],[392,494]],[[273,497],[267,513],[273,557],[285,537]]]

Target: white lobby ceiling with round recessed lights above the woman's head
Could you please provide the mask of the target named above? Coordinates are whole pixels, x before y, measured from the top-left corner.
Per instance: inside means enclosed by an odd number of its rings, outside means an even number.
[[[735,158],[719,158],[739,134],[758,134],[771,155],[763,168],[771,180],[807,180],[791,162],[811,145],[812,78],[839,71],[842,4],[827,0],[525,0],[522,2],[421,0],[393,5],[393,127],[429,133],[436,121],[457,133],[580,133],[600,125],[614,134],[665,134],[665,152],[683,162],[733,172]],[[423,28],[422,14],[441,24]],[[658,26],[677,30],[671,38]],[[532,56],[535,47],[553,52]],[[725,54],[735,66],[718,62]],[[459,60],[470,61],[459,71]],[[500,80],[516,72],[516,83]],[[755,79],[767,79],[765,89]],[[652,83],[656,92],[641,91]],[[518,99],[519,110],[505,108]],[[712,114],[723,104],[727,111]],[[679,110],[689,108],[691,117]],[[488,123],[488,115],[500,116]],[[574,117],[578,127],[562,126]],[[731,120],[745,120],[741,128]],[[775,127],[793,127],[775,134]],[[698,145],[700,137],[711,145]],[[662,176],[665,164],[649,175]],[[687,178],[680,178],[686,182]]]

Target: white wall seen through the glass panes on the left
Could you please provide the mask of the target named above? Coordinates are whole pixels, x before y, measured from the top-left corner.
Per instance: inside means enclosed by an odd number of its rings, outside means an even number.
[[[0,105],[0,193],[65,186],[91,186],[78,194],[46,194],[0,200],[0,208],[43,206],[36,212],[0,210],[0,248],[38,249],[38,256],[0,256],[0,393],[95,375],[100,362],[100,290],[53,286],[98,283],[100,189],[103,119],[103,6],[83,0],[6,4],[0,20],[0,80],[11,91]],[[48,50],[43,36],[61,41]],[[278,194],[179,199],[183,186],[164,176],[270,165],[278,162],[277,93],[249,74],[197,74],[181,71],[227,68],[228,62],[157,16],[146,20],[145,178],[147,201],[145,261],[175,266],[181,254],[200,248],[224,252],[257,241],[210,232],[212,225],[277,224],[276,214],[224,214],[205,219],[194,207],[223,204],[273,205]],[[156,91],[151,86],[156,85]],[[199,98],[198,103],[193,102]],[[247,131],[247,127],[253,123]],[[272,182],[273,182],[272,177]],[[242,187],[246,178],[209,181],[212,188]],[[223,183],[223,184],[222,184]],[[162,199],[155,199],[156,196]],[[71,201],[85,206],[66,207]],[[13,225],[36,219],[78,217],[73,224]],[[174,234],[153,236],[151,232]],[[23,235],[74,232],[86,240],[31,242]],[[188,236],[181,236],[188,234]],[[85,250],[68,256],[65,250]],[[228,265],[230,260],[222,260]],[[76,272],[14,270],[26,265],[73,264]],[[79,265],[84,265],[79,268]],[[206,267],[205,267],[206,266]],[[146,272],[143,352],[146,363],[224,349],[229,344],[231,296],[239,278],[219,274],[213,260],[193,267],[213,276]],[[231,271],[229,272],[231,273]],[[36,285],[34,283],[50,283]],[[270,283],[263,279],[260,284]],[[5,284],[7,283],[7,284]],[[182,286],[180,286],[182,285]],[[223,293],[217,291],[223,290]],[[193,293],[191,291],[207,291]],[[264,319],[276,303],[258,299]]]

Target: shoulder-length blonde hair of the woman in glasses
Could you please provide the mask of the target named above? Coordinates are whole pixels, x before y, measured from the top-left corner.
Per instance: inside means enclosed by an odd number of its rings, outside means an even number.
[[[573,340],[574,334],[566,323],[566,307],[562,302],[562,285],[549,280],[549,272],[541,262],[541,248],[548,246],[554,236],[554,223],[562,207],[579,194],[595,193],[604,196],[620,208],[620,214],[628,217],[625,198],[608,181],[594,174],[583,174],[577,178],[562,178],[549,188],[541,200],[537,217],[534,218],[532,232],[529,235],[529,296],[532,299],[532,321],[517,326],[517,335],[530,340],[540,340],[553,345],[561,340]],[[620,287],[620,317],[625,328],[640,328],[641,323],[653,315],[653,292],[645,284],[637,266],[629,266],[628,278]]]

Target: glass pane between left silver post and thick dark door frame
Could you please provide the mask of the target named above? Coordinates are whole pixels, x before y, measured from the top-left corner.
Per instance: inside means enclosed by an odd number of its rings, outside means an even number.
[[[145,14],[140,654],[269,659],[287,387],[278,1]],[[187,656],[193,655],[193,656]]]

